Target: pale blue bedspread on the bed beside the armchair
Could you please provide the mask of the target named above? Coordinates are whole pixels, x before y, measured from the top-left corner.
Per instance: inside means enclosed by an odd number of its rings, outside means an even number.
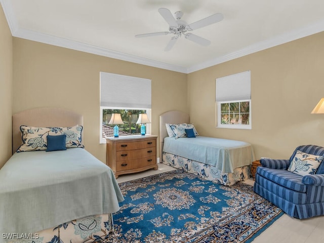
[[[233,173],[235,168],[252,165],[254,160],[250,143],[203,136],[178,139],[166,137],[163,152],[214,166],[225,173]]]

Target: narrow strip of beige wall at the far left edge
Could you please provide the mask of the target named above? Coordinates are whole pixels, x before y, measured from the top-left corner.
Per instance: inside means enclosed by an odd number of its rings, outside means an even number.
[[[11,156],[12,36],[0,5],[0,169]]]

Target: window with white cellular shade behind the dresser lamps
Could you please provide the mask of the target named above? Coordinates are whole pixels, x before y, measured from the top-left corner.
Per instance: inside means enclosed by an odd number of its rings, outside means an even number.
[[[100,143],[113,136],[114,125],[108,124],[112,113],[119,113],[124,122],[118,125],[119,136],[140,134],[138,115],[147,113],[151,120],[151,80],[100,72]],[[150,132],[146,124],[146,133]]]

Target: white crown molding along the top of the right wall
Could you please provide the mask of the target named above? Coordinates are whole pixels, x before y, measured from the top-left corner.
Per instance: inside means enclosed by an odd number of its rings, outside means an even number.
[[[308,35],[312,35],[318,32],[324,31],[324,21],[317,22],[315,24],[306,26],[304,28],[298,29],[296,31],[292,31],[289,33],[278,35],[274,38],[267,39],[263,42],[259,42],[257,44],[251,45],[247,48],[243,48],[240,50],[237,50],[235,52],[226,54],[222,57],[215,58],[203,63],[200,63],[198,65],[194,65],[188,68],[187,73],[191,73],[194,71],[198,71],[207,67],[211,67],[223,62],[227,62],[239,57],[243,57],[252,53],[256,53],[271,47],[275,47],[281,44],[285,44],[291,41],[295,41],[296,39],[306,37]]]

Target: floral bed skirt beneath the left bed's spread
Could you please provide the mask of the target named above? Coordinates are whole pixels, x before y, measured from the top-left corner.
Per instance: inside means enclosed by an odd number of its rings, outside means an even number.
[[[113,231],[111,214],[87,216],[32,234],[12,235],[11,243],[101,242]],[[8,235],[9,238],[9,235]]]

